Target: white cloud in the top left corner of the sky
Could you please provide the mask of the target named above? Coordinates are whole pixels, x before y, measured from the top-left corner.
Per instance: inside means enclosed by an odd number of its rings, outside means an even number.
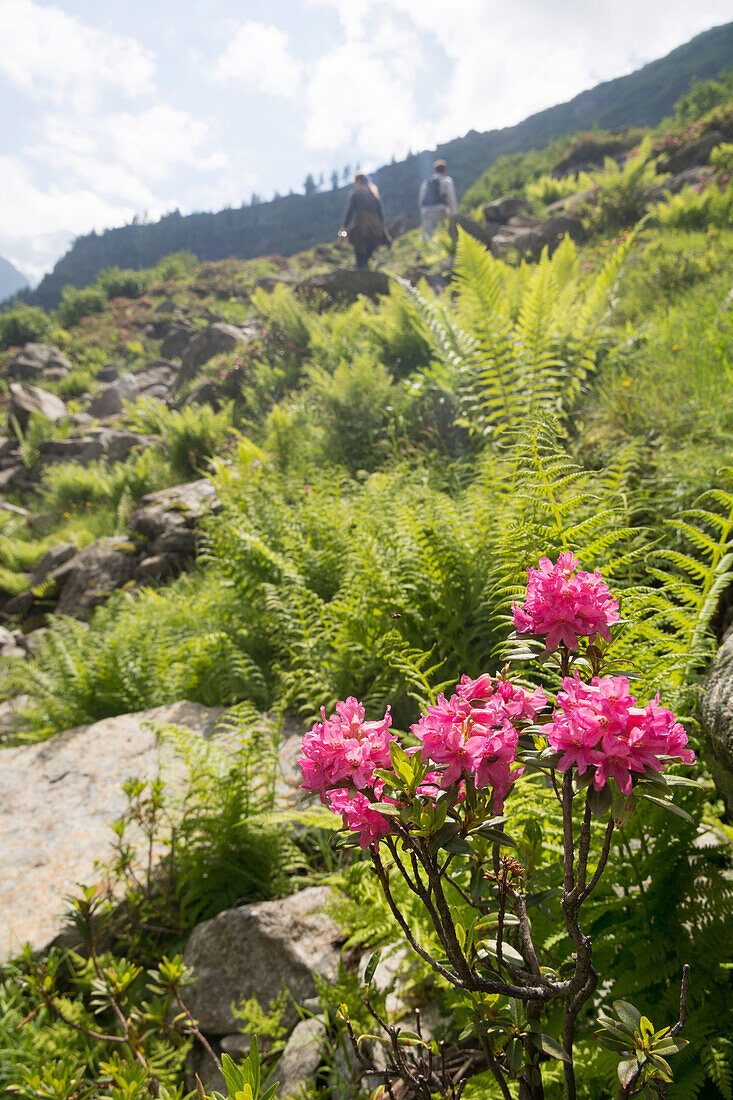
[[[127,96],[153,88],[153,55],[134,38],[81,23],[33,0],[0,0],[0,75],[39,98],[92,99],[100,87]]]

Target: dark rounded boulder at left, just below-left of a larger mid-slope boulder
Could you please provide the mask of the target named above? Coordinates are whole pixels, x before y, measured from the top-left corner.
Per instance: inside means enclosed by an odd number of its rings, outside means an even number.
[[[134,580],[138,551],[123,538],[99,539],[48,574],[63,582],[57,610],[86,618],[116,588]]]

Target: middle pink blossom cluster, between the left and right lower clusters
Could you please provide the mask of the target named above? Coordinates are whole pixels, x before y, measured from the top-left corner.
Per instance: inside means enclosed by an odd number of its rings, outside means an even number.
[[[494,812],[521,770],[512,771],[519,738],[517,726],[534,722],[547,696],[537,689],[525,691],[508,681],[462,676],[450,698],[438,696],[435,706],[412,730],[423,743],[423,759],[440,766],[440,785],[472,776],[478,788],[491,787]]]

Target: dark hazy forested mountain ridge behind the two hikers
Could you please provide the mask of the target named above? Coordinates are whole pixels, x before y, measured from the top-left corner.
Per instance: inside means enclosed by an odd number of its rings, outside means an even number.
[[[504,153],[546,145],[554,138],[602,127],[653,125],[659,122],[696,78],[707,79],[730,66],[733,23],[713,28],[666,57],[628,76],[581,92],[567,103],[530,116],[517,125],[485,133],[470,131],[439,145],[449,161],[459,195]],[[431,151],[386,165],[374,174],[387,217],[417,215],[417,189],[435,155]],[[333,237],[346,205],[347,188],[315,195],[289,195],[218,213],[167,215],[153,224],[124,226],[79,238],[37,290],[26,300],[51,308],[62,288],[85,286],[106,266],[152,266],[180,249],[199,260],[249,258],[267,253],[292,254]]]

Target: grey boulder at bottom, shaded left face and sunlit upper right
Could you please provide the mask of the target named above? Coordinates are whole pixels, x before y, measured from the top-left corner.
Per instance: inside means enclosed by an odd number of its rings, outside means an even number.
[[[310,887],[227,910],[194,928],[184,952],[195,976],[186,1003],[205,1034],[237,1030],[232,1002],[256,997],[266,1007],[283,986],[302,1002],[316,993],[316,974],[337,974],[341,937],[325,912],[329,897],[327,887]]]

